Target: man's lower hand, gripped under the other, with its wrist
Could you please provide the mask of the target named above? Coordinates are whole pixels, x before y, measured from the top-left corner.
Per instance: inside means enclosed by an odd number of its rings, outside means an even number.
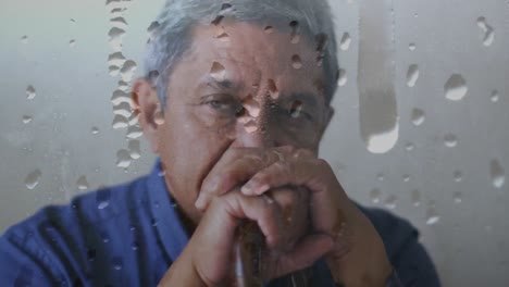
[[[251,220],[266,242],[263,278],[281,277],[309,266],[333,247],[328,236],[295,240],[307,230],[308,192],[277,188],[263,196],[245,196],[238,189],[211,200],[183,254],[166,273],[161,286],[172,286],[182,270],[191,269],[206,286],[224,284],[232,277],[235,232],[240,221]],[[295,236],[291,236],[295,235]],[[288,250],[290,246],[291,250]],[[185,265],[185,266],[182,266]]]

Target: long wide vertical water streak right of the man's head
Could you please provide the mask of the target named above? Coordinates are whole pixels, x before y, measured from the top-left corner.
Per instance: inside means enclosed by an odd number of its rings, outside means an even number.
[[[396,17],[393,3],[359,1],[357,86],[361,138],[371,153],[390,151],[399,139],[396,97]]]

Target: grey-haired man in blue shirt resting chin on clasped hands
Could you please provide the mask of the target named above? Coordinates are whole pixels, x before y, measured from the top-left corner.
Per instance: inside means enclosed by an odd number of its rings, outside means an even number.
[[[325,0],[172,0],[159,24],[133,85],[156,167],[11,227],[2,286],[235,285],[249,222],[270,286],[439,286],[417,230],[316,158],[338,71]]]

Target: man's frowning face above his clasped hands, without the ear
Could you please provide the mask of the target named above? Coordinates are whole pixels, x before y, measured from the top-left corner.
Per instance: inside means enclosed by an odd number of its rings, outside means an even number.
[[[169,190],[195,222],[201,183],[228,149],[318,151],[332,114],[316,62],[319,43],[303,36],[297,41],[291,30],[247,23],[200,26],[174,67],[152,146]]]

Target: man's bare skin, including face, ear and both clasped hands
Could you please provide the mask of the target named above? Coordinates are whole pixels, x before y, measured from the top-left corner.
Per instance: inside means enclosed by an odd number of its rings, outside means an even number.
[[[245,219],[265,238],[265,278],[325,257],[337,283],[384,286],[392,267],[378,234],[316,157],[333,114],[316,43],[247,23],[220,26],[195,29],[164,113],[150,83],[134,85],[145,136],[193,233],[161,286],[223,284]]]

